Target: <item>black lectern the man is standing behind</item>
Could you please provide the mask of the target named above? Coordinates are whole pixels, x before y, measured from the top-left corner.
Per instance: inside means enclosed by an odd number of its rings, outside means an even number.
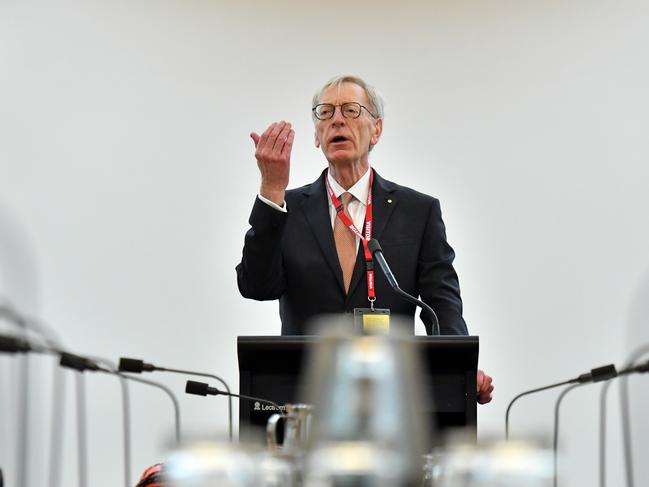
[[[269,399],[278,404],[305,402],[300,397],[301,373],[313,336],[240,336],[237,339],[240,394]],[[437,432],[466,427],[476,437],[477,336],[413,336],[421,354],[423,387],[429,404],[421,405]],[[376,407],[380,407],[377,405]],[[241,400],[239,431],[246,434],[265,427],[273,406]],[[253,428],[251,428],[253,427]]]

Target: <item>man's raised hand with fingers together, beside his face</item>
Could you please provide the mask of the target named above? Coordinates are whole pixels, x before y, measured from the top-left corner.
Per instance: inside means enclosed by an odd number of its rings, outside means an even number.
[[[295,131],[285,121],[271,124],[261,136],[250,134],[255,143],[255,158],[261,173],[259,194],[280,206],[288,186],[291,168],[291,149]]]

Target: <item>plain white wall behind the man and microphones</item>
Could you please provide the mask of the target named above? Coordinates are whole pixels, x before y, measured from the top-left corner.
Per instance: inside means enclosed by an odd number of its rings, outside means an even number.
[[[502,435],[515,393],[649,342],[646,2],[234,4],[0,2],[1,294],[72,350],[236,384],[236,336],[279,332],[276,304],[244,300],[235,282],[258,186],[248,134],[292,121],[291,185],[314,180],[324,160],[311,95],[351,72],[386,99],[375,167],[442,201],[465,316],[496,380],[482,436]],[[37,485],[50,369],[32,363]],[[11,485],[16,362],[0,367]],[[632,383],[646,451],[642,379]],[[63,485],[76,482],[72,385]],[[95,376],[88,389],[92,485],[117,485],[118,386]],[[135,476],[160,460],[171,411],[132,394]],[[554,397],[521,401],[513,434],[547,435]],[[564,485],[597,480],[597,400],[597,387],[566,399]],[[182,407],[188,431],[225,431],[224,401]],[[611,453],[617,485],[620,458]]]

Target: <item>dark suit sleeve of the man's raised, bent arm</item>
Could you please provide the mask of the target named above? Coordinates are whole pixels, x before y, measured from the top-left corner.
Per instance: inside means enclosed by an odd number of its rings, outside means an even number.
[[[278,211],[259,198],[250,214],[237,284],[244,298],[259,301],[279,299],[286,287],[282,263],[282,236],[287,213]]]

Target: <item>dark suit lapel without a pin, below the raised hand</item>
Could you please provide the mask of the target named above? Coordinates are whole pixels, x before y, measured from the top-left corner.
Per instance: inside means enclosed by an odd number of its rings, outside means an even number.
[[[343,272],[340,268],[333,229],[331,228],[324,174],[323,172],[322,176],[315,183],[306,187],[304,194],[307,198],[303,201],[301,209],[304,212],[311,231],[316,237],[320,250],[324,254],[325,261],[331,267],[338,281],[338,286],[344,292]]]

